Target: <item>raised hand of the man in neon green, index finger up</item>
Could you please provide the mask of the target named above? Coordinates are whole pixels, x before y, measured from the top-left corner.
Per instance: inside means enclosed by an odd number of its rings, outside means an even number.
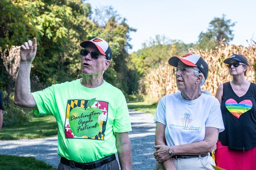
[[[21,62],[30,62],[34,60],[36,56],[36,38],[33,38],[32,41],[28,40],[28,42],[25,42],[24,45],[21,45],[20,47],[20,61]]]

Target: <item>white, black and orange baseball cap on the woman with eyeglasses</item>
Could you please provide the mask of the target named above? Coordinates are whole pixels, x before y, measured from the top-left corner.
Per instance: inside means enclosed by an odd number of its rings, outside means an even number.
[[[201,56],[192,53],[186,54],[182,58],[172,56],[168,63],[173,67],[178,67],[179,61],[189,66],[198,67],[204,74],[205,79],[208,77],[209,67]]]

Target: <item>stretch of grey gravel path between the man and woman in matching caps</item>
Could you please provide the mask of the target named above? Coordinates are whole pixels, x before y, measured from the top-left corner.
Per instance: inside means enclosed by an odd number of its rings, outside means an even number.
[[[153,169],[155,165],[155,130],[153,116],[147,113],[129,110],[132,131],[129,137],[132,146],[132,168]]]

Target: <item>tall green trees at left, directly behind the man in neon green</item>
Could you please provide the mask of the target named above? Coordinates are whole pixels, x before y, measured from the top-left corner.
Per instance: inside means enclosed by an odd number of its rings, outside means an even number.
[[[127,67],[127,48],[131,31],[126,19],[112,6],[95,9],[92,19],[90,4],[82,0],[13,1],[0,2],[0,44],[21,45],[37,38],[37,54],[31,69],[31,91],[41,90],[52,84],[81,77],[79,43],[102,37],[111,46],[111,66],[104,79],[131,93],[137,87],[128,84],[134,74]],[[0,60],[0,66],[3,62]],[[0,85],[6,86],[4,67],[0,67]],[[134,80],[135,81],[135,80]],[[131,87],[130,87],[131,86]]]

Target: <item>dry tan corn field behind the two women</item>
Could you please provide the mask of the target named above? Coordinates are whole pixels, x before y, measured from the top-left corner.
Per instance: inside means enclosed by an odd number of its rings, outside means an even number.
[[[242,54],[247,57],[252,67],[247,71],[246,80],[255,83],[256,46],[242,47],[222,44],[220,48],[216,48],[215,50],[211,49],[209,52],[189,49],[189,53],[202,56],[208,63],[208,78],[201,88],[202,90],[210,91],[213,96],[220,84],[232,80],[232,76],[229,75],[228,68],[223,62],[232,54]],[[175,75],[172,73],[173,68],[174,67],[170,66],[168,61],[166,61],[166,64],[151,70],[141,81],[145,88],[144,93],[151,102],[158,102],[164,95],[178,92]]]

